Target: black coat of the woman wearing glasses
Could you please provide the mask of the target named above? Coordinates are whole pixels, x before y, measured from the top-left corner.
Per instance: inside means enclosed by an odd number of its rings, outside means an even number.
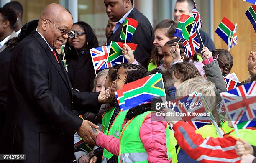
[[[68,76],[72,87],[82,92],[92,91],[95,71],[89,50],[76,51],[72,48],[66,55]]]

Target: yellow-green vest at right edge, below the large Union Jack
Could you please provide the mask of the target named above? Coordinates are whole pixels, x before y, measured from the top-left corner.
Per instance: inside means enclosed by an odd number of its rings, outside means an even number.
[[[242,140],[246,140],[248,143],[250,143],[253,146],[256,146],[256,129],[253,127],[247,127],[243,129],[238,129],[238,135],[239,138]],[[236,139],[238,139],[236,132],[233,130],[228,134],[227,136],[232,136]]]

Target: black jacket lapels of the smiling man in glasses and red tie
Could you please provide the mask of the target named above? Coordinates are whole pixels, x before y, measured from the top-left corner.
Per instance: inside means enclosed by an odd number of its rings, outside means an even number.
[[[59,60],[59,63],[58,63],[58,61],[56,60],[56,58],[55,58],[54,54],[52,53],[51,49],[49,48],[47,43],[44,41],[44,39],[39,35],[39,33],[36,30],[34,30],[31,34],[34,36],[34,38],[36,38],[36,40],[45,49],[46,56],[49,58],[49,60],[51,61],[51,64],[53,64],[54,68],[56,69],[56,71],[61,76],[61,79],[66,84],[67,88],[69,89],[69,93],[72,95],[72,87],[70,87],[69,80],[67,79],[66,70],[63,71],[62,68],[61,68],[62,62],[61,62],[61,59],[59,58],[59,56],[57,55],[58,60]],[[58,54],[58,53],[56,52],[56,54]]]

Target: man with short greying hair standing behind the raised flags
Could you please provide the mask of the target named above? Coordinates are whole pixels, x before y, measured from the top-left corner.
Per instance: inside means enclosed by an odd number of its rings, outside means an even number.
[[[177,0],[176,5],[174,8],[174,20],[178,23],[179,18],[181,17],[182,13],[192,16],[192,10],[195,6],[194,0]],[[202,16],[202,15],[200,15]],[[202,38],[202,42],[204,43],[204,46],[209,48],[210,51],[215,50],[214,43],[210,36],[205,33],[202,29],[200,30],[200,35]],[[197,35],[198,36],[198,35]],[[198,40],[200,41],[200,37],[198,36]],[[202,51],[202,43],[200,41],[200,49],[198,49],[198,53],[201,53]]]

